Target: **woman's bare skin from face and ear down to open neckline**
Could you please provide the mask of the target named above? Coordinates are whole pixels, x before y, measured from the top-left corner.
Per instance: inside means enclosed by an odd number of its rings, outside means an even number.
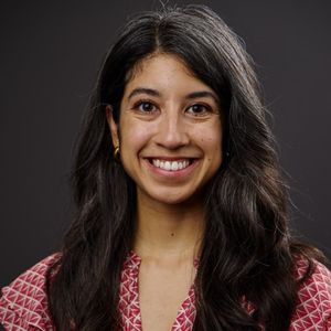
[[[170,330],[195,276],[204,231],[204,186],[222,163],[220,100],[175,55],[153,54],[134,70],[119,127],[107,107],[114,146],[137,184],[134,250],[141,257],[139,303],[145,331]],[[162,170],[152,159],[190,161]]]

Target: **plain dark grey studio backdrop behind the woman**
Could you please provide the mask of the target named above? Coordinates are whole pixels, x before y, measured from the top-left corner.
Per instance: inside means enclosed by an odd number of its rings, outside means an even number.
[[[255,58],[291,188],[290,226],[330,257],[331,2],[190,3],[216,11]],[[72,150],[96,72],[127,18],[159,7],[1,1],[0,286],[58,249],[73,210]]]

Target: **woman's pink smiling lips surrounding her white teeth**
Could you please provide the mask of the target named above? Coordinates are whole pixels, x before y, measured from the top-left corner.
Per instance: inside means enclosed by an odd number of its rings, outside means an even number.
[[[189,167],[186,167],[185,169],[178,169],[178,170],[174,170],[174,171],[168,171],[168,170],[164,170],[164,169],[161,169],[161,168],[158,168],[156,166],[153,166],[149,160],[150,159],[159,159],[159,160],[167,160],[167,161],[181,161],[181,160],[193,160]],[[160,157],[157,157],[157,158],[143,158],[142,159],[143,161],[143,164],[146,164],[146,167],[148,168],[148,170],[150,170],[152,173],[154,174],[158,174],[160,177],[164,177],[164,178],[184,178],[186,175],[189,175],[193,170],[194,168],[197,166],[199,163],[199,159],[195,159],[195,158],[160,158]]]

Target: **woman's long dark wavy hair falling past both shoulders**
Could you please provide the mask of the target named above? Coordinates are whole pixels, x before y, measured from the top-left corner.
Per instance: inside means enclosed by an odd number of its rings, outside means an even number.
[[[194,330],[286,330],[298,291],[296,259],[306,257],[309,273],[314,253],[289,234],[287,186],[254,63],[236,34],[203,6],[134,17],[106,55],[72,173],[76,214],[50,270],[56,329],[73,322],[82,331],[120,328],[119,279],[132,245],[136,186],[113,157],[105,107],[111,105],[118,122],[130,74],[153,53],[183,60],[218,95],[224,111],[226,156],[206,190]],[[256,308],[253,314],[243,298]]]

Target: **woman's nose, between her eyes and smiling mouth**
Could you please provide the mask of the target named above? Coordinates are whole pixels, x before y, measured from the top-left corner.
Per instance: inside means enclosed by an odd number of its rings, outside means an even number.
[[[188,128],[178,109],[166,111],[160,118],[156,142],[168,149],[178,149],[189,143]]]

